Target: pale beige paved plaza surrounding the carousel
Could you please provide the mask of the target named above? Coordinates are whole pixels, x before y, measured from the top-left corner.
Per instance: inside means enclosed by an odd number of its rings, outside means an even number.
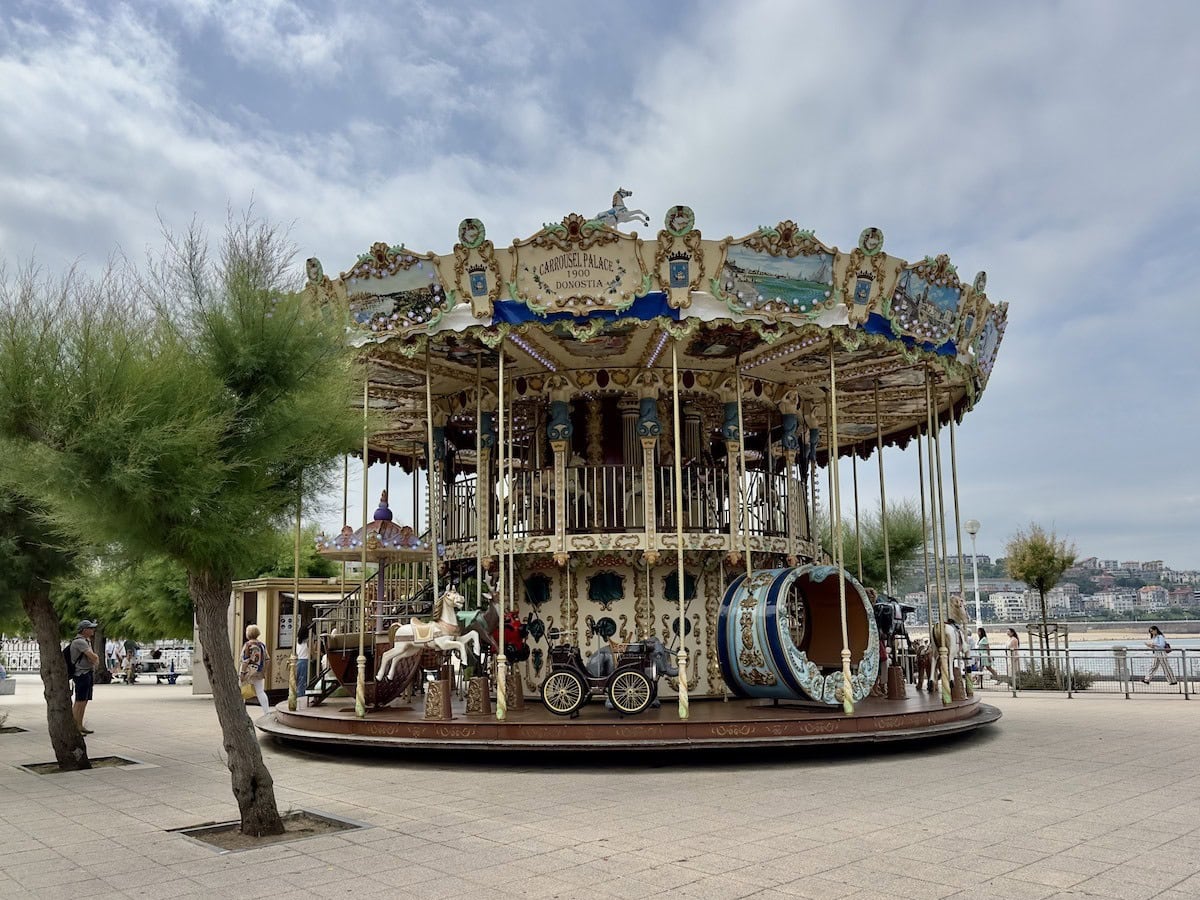
[[[0,698],[0,898],[1200,896],[1200,702],[988,696],[964,739],[877,754],[337,758],[263,738],[281,809],[370,826],[226,853],[211,703],[104,685],[53,760],[40,682]],[[256,710],[257,712],[257,710]]]

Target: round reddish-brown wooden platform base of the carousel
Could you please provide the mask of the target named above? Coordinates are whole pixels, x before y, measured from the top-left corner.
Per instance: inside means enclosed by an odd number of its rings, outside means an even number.
[[[420,704],[354,715],[354,701],[331,700],[319,707],[301,704],[288,712],[275,707],[258,728],[288,743],[403,750],[703,750],[733,746],[812,746],[924,740],[991,725],[1000,710],[978,697],[942,706],[938,696],[906,700],[869,698],[853,715],[840,707],[774,706],[762,700],[694,701],[690,718],[679,719],[678,704],[664,698],[659,709],[622,718],[602,702],[583,707],[577,719],[548,713],[529,701],[504,721],[467,718],[457,698],[450,721],[428,721]]]

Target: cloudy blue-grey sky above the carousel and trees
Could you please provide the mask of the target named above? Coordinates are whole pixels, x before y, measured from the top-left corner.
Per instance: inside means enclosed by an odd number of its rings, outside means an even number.
[[[956,434],[979,552],[1037,522],[1195,569],[1198,43],[1182,0],[7,0],[0,258],[100,269],[253,203],[337,272],[448,252],[468,216],[508,245],[618,185],[706,238],[877,226],[1009,302]],[[884,468],[916,498],[914,454]]]

